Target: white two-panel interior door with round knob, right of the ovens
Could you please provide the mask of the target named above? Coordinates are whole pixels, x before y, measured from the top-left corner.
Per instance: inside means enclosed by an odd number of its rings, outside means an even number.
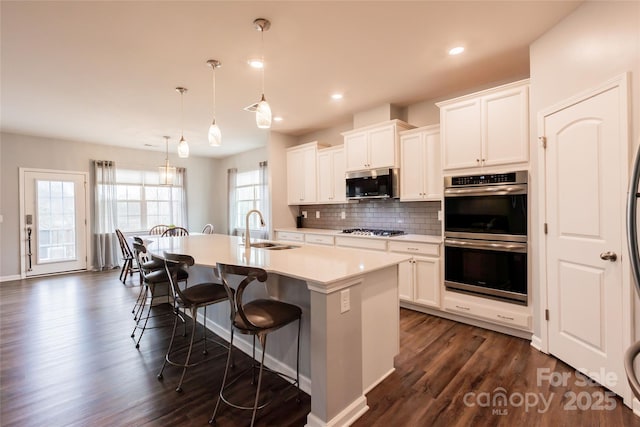
[[[549,352],[627,397],[622,275],[628,141],[619,86],[544,117]],[[629,315],[627,315],[629,316]]]

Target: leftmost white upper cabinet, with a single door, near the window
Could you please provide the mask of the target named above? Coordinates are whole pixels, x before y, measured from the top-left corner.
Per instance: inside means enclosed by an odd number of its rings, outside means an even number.
[[[325,145],[309,142],[287,150],[287,204],[316,203],[318,148]]]

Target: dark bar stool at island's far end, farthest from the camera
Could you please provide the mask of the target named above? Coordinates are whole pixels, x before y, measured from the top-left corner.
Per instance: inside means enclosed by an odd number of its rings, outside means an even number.
[[[175,309],[173,309],[168,313],[163,313],[160,315],[151,315],[151,307],[153,306],[154,300],[157,297],[156,287],[158,285],[166,284],[169,285],[169,277],[164,268],[164,260],[162,259],[154,259],[151,257],[150,261],[144,261],[144,257],[147,254],[147,248],[144,244],[139,243],[138,241],[133,242],[134,251],[136,256],[138,257],[138,262],[143,268],[141,268],[142,274],[142,283],[144,285],[144,295],[140,301],[140,305],[138,306],[138,311],[135,313],[134,320],[136,320],[136,324],[133,327],[133,331],[131,331],[131,338],[135,338],[136,330],[140,329],[140,335],[138,336],[138,340],[136,341],[136,348],[140,348],[140,340],[142,339],[142,335],[144,332],[150,327],[147,326],[149,323],[149,319],[159,316],[166,316],[169,314],[173,314]],[[148,268],[144,268],[144,267]],[[186,282],[189,278],[189,273],[180,269],[178,272],[178,281]],[[171,303],[169,299],[170,295],[167,294],[167,303]],[[147,306],[147,311],[145,315],[145,306]],[[135,307],[134,307],[135,310]],[[179,313],[175,313],[178,315]],[[144,321],[143,321],[144,318]]]

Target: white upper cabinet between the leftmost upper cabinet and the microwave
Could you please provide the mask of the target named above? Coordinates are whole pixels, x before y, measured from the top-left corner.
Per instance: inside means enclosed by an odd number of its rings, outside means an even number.
[[[346,197],[344,146],[318,150],[318,202],[344,203]]]

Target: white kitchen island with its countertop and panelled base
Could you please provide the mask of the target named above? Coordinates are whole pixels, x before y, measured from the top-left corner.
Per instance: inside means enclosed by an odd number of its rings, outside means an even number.
[[[148,249],[189,254],[209,272],[218,262],[263,268],[268,294],[301,306],[301,387],[311,396],[307,426],[351,424],[368,409],[365,393],[394,370],[398,264],[409,256],[313,245],[246,250],[239,237],[221,234],[152,238]],[[228,306],[218,305],[205,321],[228,338]],[[267,358],[295,369],[295,332],[283,334],[286,339],[270,338]]]

